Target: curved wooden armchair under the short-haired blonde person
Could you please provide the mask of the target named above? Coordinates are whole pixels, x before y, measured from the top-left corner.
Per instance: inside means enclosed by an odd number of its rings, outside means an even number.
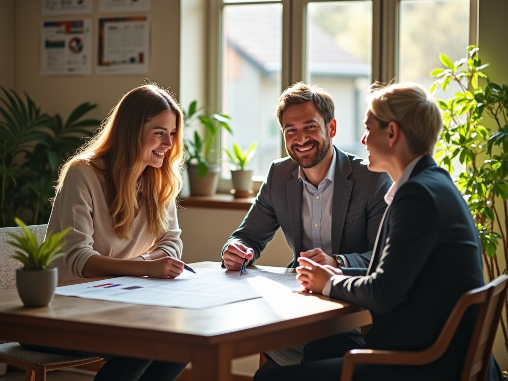
[[[467,308],[473,304],[480,304],[460,381],[485,381],[492,344],[507,291],[508,276],[501,275],[483,287],[462,295],[439,337],[425,351],[353,350],[346,353],[340,380],[353,380],[355,364],[425,365],[437,360],[447,350]]]

